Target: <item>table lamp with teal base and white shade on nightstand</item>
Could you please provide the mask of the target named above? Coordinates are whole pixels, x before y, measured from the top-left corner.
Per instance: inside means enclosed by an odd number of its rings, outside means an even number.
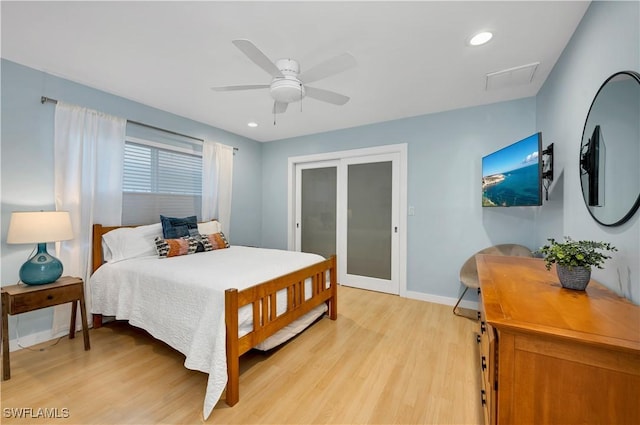
[[[20,267],[20,280],[28,285],[43,285],[62,276],[62,263],[47,252],[47,242],[73,239],[67,211],[13,212],[7,243],[35,243],[37,252]]]

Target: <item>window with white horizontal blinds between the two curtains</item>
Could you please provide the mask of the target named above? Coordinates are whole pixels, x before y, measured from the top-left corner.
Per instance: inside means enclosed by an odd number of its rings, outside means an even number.
[[[202,155],[128,137],[124,148],[122,224],[195,215],[202,205]]]

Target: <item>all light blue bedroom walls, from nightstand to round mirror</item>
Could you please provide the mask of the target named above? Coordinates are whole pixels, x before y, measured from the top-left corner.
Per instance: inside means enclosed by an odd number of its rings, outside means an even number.
[[[455,298],[458,270],[476,250],[502,242],[535,248],[547,237],[607,240],[620,251],[594,277],[640,302],[640,214],[606,228],[580,194],[577,155],[584,119],[612,73],[640,70],[640,3],[594,2],[536,98],[260,144],[208,125],[2,60],[2,284],[15,282],[30,247],[6,245],[13,210],[53,207],[53,105],[64,100],[240,148],[234,164],[233,243],[285,248],[287,158],[407,143],[408,289]],[[553,142],[556,179],[542,207],[483,209],[480,158],[535,131]],[[473,297],[471,297],[473,298]],[[51,327],[51,314],[20,316],[21,335]],[[10,326],[15,329],[15,319]],[[11,338],[14,334],[10,335]]]

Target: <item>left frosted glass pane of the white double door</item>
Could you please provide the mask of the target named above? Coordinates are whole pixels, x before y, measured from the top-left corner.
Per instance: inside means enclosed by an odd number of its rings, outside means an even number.
[[[336,253],[337,176],[337,167],[302,170],[302,252]]]

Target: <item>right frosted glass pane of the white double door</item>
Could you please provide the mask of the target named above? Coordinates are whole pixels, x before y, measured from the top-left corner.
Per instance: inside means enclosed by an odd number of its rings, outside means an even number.
[[[348,167],[348,274],[391,279],[391,173],[391,161]]]

